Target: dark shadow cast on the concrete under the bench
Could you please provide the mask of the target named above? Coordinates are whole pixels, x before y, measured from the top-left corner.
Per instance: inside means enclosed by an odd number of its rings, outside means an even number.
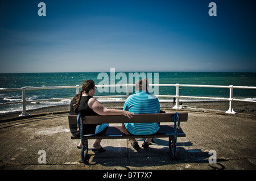
[[[89,151],[89,163],[86,165],[101,165],[104,167],[123,167],[129,170],[131,167],[139,169],[139,167],[145,167],[145,165],[151,169],[157,169],[168,165],[179,165],[179,163],[209,163],[208,152],[203,152],[200,149],[185,149],[187,146],[192,146],[192,142],[178,142],[177,146],[177,159],[171,160],[168,141],[154,138],[155,143],[150,146],[148,151],[142,149],[139,153],[133,148],[115,148],[113,146],[105,146],[104,153],[93,153]],[[138,140],[143,141],[143,140]],[[226,162],[227,159],[217,159],[218,164],[212,167],[212,169],[225,169],[225,166],[220,162]],[[189,169],[189,166],[187,167]]]

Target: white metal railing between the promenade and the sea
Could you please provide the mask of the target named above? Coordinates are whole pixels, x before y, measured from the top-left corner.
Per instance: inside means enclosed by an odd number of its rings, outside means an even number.
[[[123,97],[123,98],[128,98],[129,96],[129,87],[130,86],[135,86],[135,84],[126,84],[126,85],[96,85],[96,87],[103,86],[103,87],[117,87],[117,86],[126,86],[126,95],[105,95],[105,96],[94,96],[95,98],[104,98],[104,97]],[[180,103],[179,103],[179,98],[199,98],[199,99],[215,99],[215,100],[228,100],[229,101],[229,110],[226,111],[225,113],[236,113],[233,110],[233,101],[242,101],[242,102],[256,102],[256,100],[246,100],[246,99],[234,99],[233,98],[233,89],[256,89],[256,87],[253,86],[214,86],[214,85],[185,85],[185,84],[150,84],[150,86],[164,86],[164,87],[176,87],[176,95],[156,95],[157,97],[167,97],[167,98],[176,98],[176,104],[174,109],[180,109]],[[22,113],[19,116],[29,116],[29,114],[26,112],[26,103],[30,102],[38,102],[38,101],[53,101],[53,100],[63,100],[63,99],[72,99],[72,98],[55,98],[55,99],[38,99],[38,100],[26,100],[26,90],[39,90],[39,89],[76,89],[76,94],[79,93],[79,89],[81,86],[56,86],[56,87],[22,87],[18,89],[1,89],[0,92],[4,91],[22,91],[22,101],[20,102],[12,102],[12,103],[2,103],[1,105],[7,105],[7,104],[18,104],[22,103],[23,104],[23,109]],[[209,87],[209,88],[225,88],[229,89],[229,98],[218,98],[218,97],[205,97],[205,96],[183,96],[179,95],[179,89],[180,87]],[[125,102],[125,101],[118,101],[118,100],[112,100],[109,102]]]

